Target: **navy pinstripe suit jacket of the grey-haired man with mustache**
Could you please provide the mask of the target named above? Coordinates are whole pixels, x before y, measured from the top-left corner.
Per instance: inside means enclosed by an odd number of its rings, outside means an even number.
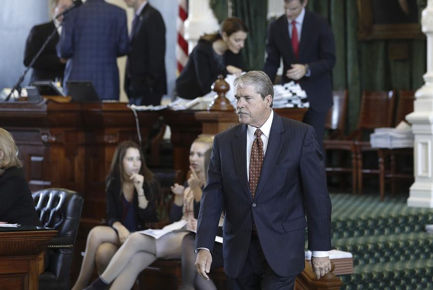
[[[196,248],[212,250],[225,210],[223,248],[228,276],[236,278],[245,264],[253,221],[274,272],[299,274],[305,267],[307,225],[309,249],[331,249],[331,201],[314,129],[274,113],[254,200],[247,179],[246,134],[247,126],[241,124],[214,138]]]

